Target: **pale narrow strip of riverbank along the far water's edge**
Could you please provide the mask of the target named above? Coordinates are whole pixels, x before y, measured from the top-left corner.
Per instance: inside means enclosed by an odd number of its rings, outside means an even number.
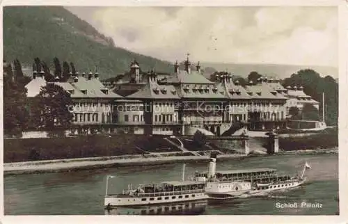
[[[338,147],[320,150],[294,150],[279,152],[272,155],[277,157],[285,154],[337,154]],[[220,154],[219,161],[231,159],[243,159],[244,157],[269,157],[267,154]],[[127,155],[120,157],[93,157],[81,159],[57,159],[49,161],[27,161],[19,163],[5,163],[3,166],[3,175],[17,175],[30,173],[54,173],[70,172],[74,170],[87,170],[99,168],[111,168],[122,166],[154,166],[168,163],[180,162],[207,162],[209,156],[169,156],[163,157],[159,154],[152,154],[151,157],[143,155]]]

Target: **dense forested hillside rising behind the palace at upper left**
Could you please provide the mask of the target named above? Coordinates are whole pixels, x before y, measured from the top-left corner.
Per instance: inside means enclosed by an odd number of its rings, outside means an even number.
[[[116,43],[117,45],[117,43]],[[74,61],[79,72],[97,67],[101,79],[116,77],[129,70],[136,59],[144,70],[155,66],[171,72],[171,63],[136,54],[120,47],[109,37],[61,6],[6,6],[3,8],[3,55],[31,67],[33,58],[47,61],[52,56]]]

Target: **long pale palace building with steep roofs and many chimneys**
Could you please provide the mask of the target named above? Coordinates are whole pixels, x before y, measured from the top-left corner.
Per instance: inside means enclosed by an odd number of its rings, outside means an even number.
[[[111,133],[192,135],[200,130],[229,135],[242,127],[279,129],[286,127],[291,106],[318,105],[302,88],[283,88],[278,79],[262,77],[242,86],[228,72],[216,78],[207,79],[199,63],[193,70],[187,57],[183,70],[176,62],[173,72],[163,76],[155,68],[141,72],[133,61],[129,72],[109,88],[97,72],[70,74],[68,81],[53,83],[72,97],[73,125],[88,131],[103,127]],[[43,72],[34,72],[26,85],[28,97],[38,95],[47,84]]]

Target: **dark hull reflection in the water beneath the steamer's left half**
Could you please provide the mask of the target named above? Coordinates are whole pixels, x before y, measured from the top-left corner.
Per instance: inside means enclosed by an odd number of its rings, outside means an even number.
[[[106,215],[201,215],[205,213],[207,200],[177,202],[162,205],[145,205],[137,207],[116,207],[105,209]]]

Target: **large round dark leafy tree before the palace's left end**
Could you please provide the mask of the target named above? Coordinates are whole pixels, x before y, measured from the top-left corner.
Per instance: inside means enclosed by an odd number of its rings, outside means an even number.
[[[37,105],[35,105],[33,115],[40,127],[53,130],[55,127],[70,126],[72,113],[68,110],[68,106],[72,105],[72,99],[61,86],[49,83],[35,98]]]

